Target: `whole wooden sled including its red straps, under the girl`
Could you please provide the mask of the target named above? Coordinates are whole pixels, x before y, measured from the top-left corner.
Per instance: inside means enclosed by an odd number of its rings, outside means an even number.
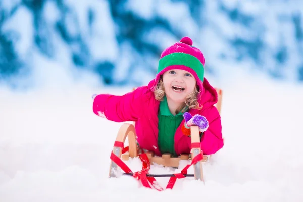
[[[215,105],[219,113],[221,112],[222,104],[222,90],[216,89],[218,94],[218,102]],[[124,143],[128,138],[128,146],[124,147]],[[156,157],[152,152],[140,149],[136,143],[136,132],[133,124],[124,123],[118,131],[114,148],[111,153],[111,163],[109,177],[118,177],[116,170],[120,167],[125,173],[124,175],[131,175],[140,180],[145,187],[163,190],[157,186],[155,177],[170,177],[166,188],[173,188],[177,178],[194,177],[196,180],[204,181],[202,162],[208,161],[210,156],[203,155],[200,149],[200,135],[198,126],[190,127],[191,151],[190,154],[182,154],[179,157],[171,157],[171,154],[163,154],[161,157]],[[139,172],[132,172],[131,169],[124,163],[129,158],[139,157],[142,161],[142,170]],[[149,174],[150,165],[156,163],[165,167],[179,167],[180,160],[191,160],[191,163],[182,169],[181,173],[153,175]],[[187,169],[193,165],[193,174],[187,174]]]

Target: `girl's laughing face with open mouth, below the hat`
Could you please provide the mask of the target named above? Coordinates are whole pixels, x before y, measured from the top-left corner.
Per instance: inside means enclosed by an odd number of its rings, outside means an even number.
[[[163,74],[163,84],[167,99],[182,104],[186,96],[195,90],[196,79],[188,71],[172,69]]]

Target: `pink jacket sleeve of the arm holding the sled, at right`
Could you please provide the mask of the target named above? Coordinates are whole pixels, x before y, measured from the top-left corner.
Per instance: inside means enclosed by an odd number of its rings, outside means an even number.
[[[215,154],[224,145],[220,114],[215,106],[203,110],[200,114],[209,121],[209,127],[201,137],[201,150],[205,155]]]

